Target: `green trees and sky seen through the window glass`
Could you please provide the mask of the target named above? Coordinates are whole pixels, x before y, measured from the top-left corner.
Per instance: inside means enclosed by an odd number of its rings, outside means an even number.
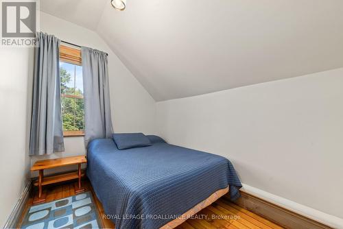
[[[84,130],[82,67],[60,62],[62,119],[64,132]]]

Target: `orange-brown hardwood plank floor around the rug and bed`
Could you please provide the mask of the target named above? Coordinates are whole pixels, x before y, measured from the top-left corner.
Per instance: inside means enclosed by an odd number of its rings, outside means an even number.
[[[45,186],[43,193],[46,195],[46,202],[58,200],[64,197],[69,197],[75,195],[75,182],[62,183],[58,185]],[[97,210],[99,217],[102,218],[104,215],[104,209],[102,204],[97,200],[93,192],[91,183],[84,179],[82,180],[82,186],[86,191],[91,191],[93,193],[93,199],[97,205]],[[38,193],[34,189],[34,195]],[[25,209],[23,210],[23,215],[21,216],[18,228],[21,226],[21,220],[23,220],[24,214],[27,209],[33,205],[34,195],[32,194],[29,197],[29,200],[25,204]],[[102,228],[115,228],[115,225],[109,219],[101,219]],[[177,227],[178,229],[206,229],[206,228],[245,228],[245,229],[255,229],[255,228],[282,228],[267,219],[263,219],[255,213],[229,202],[224,197],[220,198],[207,208],[201,210],[197,215],[193,216],[191,219],[188,219],[183,224]]]

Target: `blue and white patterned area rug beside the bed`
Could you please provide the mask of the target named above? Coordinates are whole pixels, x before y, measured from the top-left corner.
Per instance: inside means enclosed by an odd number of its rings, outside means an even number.
[[[99,217],[90,191],[31,206],[21,228],[99,228]]]

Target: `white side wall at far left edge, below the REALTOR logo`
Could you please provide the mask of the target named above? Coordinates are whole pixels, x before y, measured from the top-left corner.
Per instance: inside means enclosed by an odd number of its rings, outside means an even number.
[[[0,47],[0,227],[5,226],[29,178],[27,75],[33,49]]]

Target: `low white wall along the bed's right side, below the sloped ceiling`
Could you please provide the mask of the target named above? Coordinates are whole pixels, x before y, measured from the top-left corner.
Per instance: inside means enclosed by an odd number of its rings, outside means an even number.
[[[343,69],[156,104],[169,143],[229,158],[241,181],[343,218]]]

